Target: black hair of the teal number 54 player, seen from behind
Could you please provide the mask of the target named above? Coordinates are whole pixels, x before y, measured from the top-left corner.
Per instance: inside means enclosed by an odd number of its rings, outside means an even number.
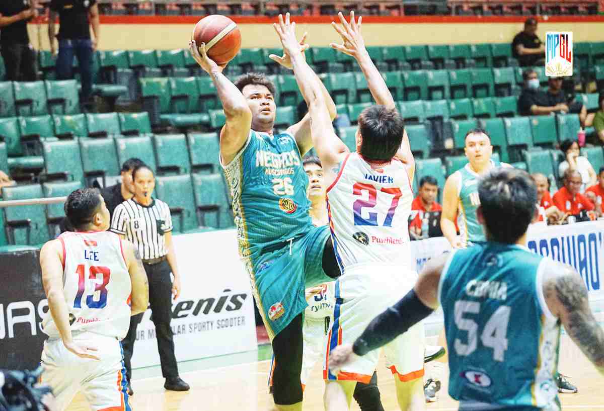
[[[537,187],[535,180],[524,170],[496,168],[481,179],[478,197],[489,238],[498,243],[513,244],[524,235],[533,220]]]

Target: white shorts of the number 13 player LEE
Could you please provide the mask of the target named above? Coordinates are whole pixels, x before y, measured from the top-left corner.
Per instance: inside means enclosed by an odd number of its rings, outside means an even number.
[[[92,411],[132,411],[121,343],[94,333],[76,334],[74,340],[97,348],[95,355],[101,360],[77,357],[60,339],[44,343],[41,382],[53,389],[58,409],[65,410],[82,390]]]

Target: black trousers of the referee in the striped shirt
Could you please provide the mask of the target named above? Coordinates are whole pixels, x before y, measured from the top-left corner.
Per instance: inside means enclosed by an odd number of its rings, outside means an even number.
[[[174,355],[174,339],[170,320],[172,320],[172,279],[170,278],[170,264],[162,261],[158,264],[144,264],[147,277],[149,277],[149,305],[151,306],[151,320],[155,324],[155,336],[159,360],[161,362],[161,374],[164,378],[178,377],[178,365]],[[124,365],[126,366],[126,377],[130,382],[132,377],[132,352],[137,337],[137,327],[143,318],[143,314],[130,317],[130,330],[126,338],[122,340],[124,348]]]

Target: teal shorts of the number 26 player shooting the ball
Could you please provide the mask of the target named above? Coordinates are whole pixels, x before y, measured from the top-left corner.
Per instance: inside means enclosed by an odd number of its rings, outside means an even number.
[[[313,227],[291,244],[261,253],[254,259],[256,302],[271,339],[287,327],[308,304],[304,289],[333,281],[323,271],[327,226]]]

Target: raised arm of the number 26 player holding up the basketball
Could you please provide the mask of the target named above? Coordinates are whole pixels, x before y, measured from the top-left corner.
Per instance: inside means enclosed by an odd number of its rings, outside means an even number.
[[[226,65],[219,66],[210,59],[203,43],[198,48],[195,40],[191,40],[189,48],[191,56],[199,66],[210,74],[225,112],[226,123],[220,130],[220,156],[223,164],[226,165],[233,161],[248,140],[252,126],[252,112],[243,94],[222,74]]]

